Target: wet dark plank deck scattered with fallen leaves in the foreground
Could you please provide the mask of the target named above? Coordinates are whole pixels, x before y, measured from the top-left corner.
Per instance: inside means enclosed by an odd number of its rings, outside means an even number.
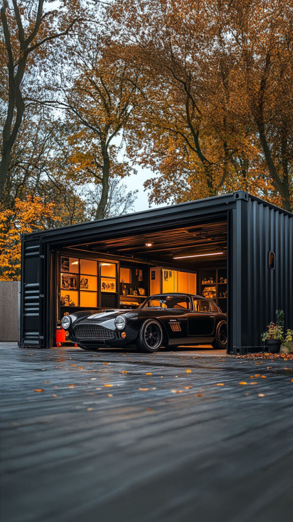
[[[291,522],[292,361],[0,355],[2,522]]]

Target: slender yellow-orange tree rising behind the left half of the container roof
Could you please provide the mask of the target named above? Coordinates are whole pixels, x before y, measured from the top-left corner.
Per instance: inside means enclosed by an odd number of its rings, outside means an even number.
[[[72,51],[74,79],[63,78],[63,92],[53,103],[67,113],[75,127],[70,161],[77,184],[101,184],[95,219],[105,215],[111,176],[124,177],[133,169],[125,159],[126,129],[141,102],[141,71],[133,66],[131,49],[113,45],[106,33],[87,35]]]

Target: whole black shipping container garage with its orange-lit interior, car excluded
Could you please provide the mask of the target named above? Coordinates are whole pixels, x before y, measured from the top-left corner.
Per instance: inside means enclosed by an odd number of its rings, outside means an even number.
[[[293,214],[238,191],[22,238],[20,346],[55,346],[64,313],[189,291],[228,314],[228,353],[293,323]]]

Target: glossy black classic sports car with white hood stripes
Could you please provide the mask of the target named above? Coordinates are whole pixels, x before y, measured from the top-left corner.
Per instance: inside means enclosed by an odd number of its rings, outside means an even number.
[[[142,352],[156,352],[161,346],[227,346],[227,315],[209,299],[193,294],[152,295],[136,310],[76,312],[65,315],[61,324],[84,350],[137,346]]]

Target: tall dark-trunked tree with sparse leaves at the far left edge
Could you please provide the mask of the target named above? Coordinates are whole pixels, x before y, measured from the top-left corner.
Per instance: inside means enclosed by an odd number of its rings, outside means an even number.
[[[50,0],[17,1],[2,0],[1,7],[1,57],[6,65],[2,79],[7,89],[2,91],[5,103],[5,117],[2,130],[2,150],[0,162],[0,197],[2,197],[11,150],[19,133],[23,113],[26,108],[28,83],[35,81],[35,75],[46,69],[46,56],[50,44],[62,39],[81,19],[78,0],[60,1],[55,9],[50,9]]]

